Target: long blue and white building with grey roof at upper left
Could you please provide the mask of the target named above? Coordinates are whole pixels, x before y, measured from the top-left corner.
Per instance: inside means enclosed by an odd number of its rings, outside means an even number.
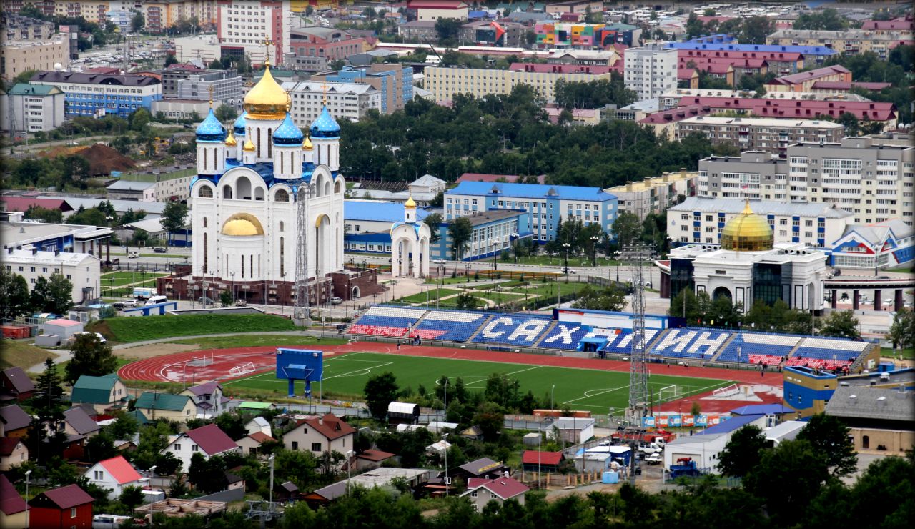
[[[127,117],[138,108],[151,112],[153,102],[162,99],[162,83],[145,75],[39,71],[29,82],[63,91],[68,119],[109,113]]]

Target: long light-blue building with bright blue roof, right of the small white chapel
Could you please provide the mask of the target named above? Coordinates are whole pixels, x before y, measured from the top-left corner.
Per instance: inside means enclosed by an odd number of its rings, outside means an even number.
[[[552,241],[559,220],[597,223],[605,232],[617,218],[617,197],[600,188],[461,182],[445,193],[445,220],[466,217],[481,211],[527,211],[526,225],[520,232],[531,232],[538,243]]]

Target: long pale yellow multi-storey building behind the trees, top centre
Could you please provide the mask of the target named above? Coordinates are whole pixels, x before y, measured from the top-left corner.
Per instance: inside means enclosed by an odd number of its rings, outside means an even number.
[[[525,65],[536,67],[561,67],[564,65]],[[594,67],[597,68],[597,67]],[[565,73],[559,71],[532,70],[484,70],[477,68],[426,68],[425,90],[432,92],[432,99],[437,103],[451,101],[456,93],[469,93],[483,97],[488,93],[509,94],[516,84],[527,84],[540,92],[547,103],[555,101],[556,81],[591,82],[610,80],[607,73]]]

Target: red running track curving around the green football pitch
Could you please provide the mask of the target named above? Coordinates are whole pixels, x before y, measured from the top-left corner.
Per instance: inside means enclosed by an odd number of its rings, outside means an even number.
[[[129,363],[118,370],[118,375],[123,380],[143,380],[152,382],[182,382],[187,377],[188,382],[203,383],[216,379],[239,378],[231,376],[233,367],[252,362],[254,371],[241,376],[251,376],[258,372],[275,369],[276,347],[240,347],[234,349],[210,349],[206,351],[188,351],[148,358]],[[289,346],[302,347],[302,346]],[[381,352],[390,354],[403,354],[412,356],[425,356],[432,358],[451,358],[457,360],[475,360],[480,362],[505,362],[529,365],[548,365],[556,367],[573,367],[579,369],[593,369],[599,371],[629,372],[629,362],[619,360],[600,360],[594,358],[577,358],[568,356],[547,356],[542,354],[528,354],[519,352],[479,351],[476,349],[453,349],[430,346],[402,346],[400,351],[396,346],[380,342],[359,342],[331,346],[308,346],[328,353],[347,352]],[[206,366],[193,366],[188,363],[185,375],[185,362],[195,358],[212,355],[213,362]],[[671,376],[690,376],[695,378],[711,378],[720,380],[733,380],[743,383],[759,383],[781,386],[780,372],[731,370],[721,368],[685,367],[670,363],[649,364],[649,371],[656,374]]]

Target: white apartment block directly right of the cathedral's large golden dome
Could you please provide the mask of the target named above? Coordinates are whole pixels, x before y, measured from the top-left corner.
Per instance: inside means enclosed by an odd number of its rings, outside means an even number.
[[[297,126],[311,125],[321,113],[323,102],[338,120],[359,121],[371,109],[382,112],[382,92],[370,84],[355,82],[287,81],[283,89],[292,98],[289,113]]]

